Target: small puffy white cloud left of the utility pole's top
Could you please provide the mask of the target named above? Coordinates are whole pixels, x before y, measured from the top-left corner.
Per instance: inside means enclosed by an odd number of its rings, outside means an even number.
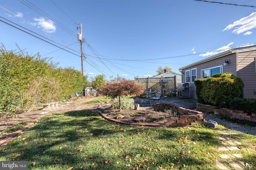
[[[42,29],[46,33],[54,33],[56,31],[56,26],[51,20],[45,20],[44,18],[34,18],[34,21],[36,21],[35,25],[37,25],[38,28]]]

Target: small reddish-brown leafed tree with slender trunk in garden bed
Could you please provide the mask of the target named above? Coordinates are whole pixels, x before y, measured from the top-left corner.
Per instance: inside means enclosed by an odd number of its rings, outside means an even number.
[[[98,88],[98,93],[111,98],[119,98],[119,107],[121,108],[121,96],[136,95],[139,96],[143,92],[143,87],[137,85],[133,81],[123,80],[121,82],[108,82],[104,86]]]

